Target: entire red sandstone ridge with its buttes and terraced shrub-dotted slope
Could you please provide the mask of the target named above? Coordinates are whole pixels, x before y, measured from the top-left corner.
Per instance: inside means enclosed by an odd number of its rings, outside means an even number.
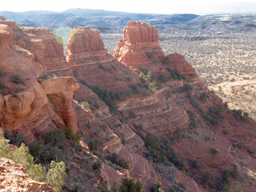
[[[254,180],[248,178],[249,173],[256,172],[254,153],[248,153],[256,151],[255,122],[239,120],[228,110],[220,98],[203,86],[194,68],[181,54],[165,57],[154,26],[128,22],[124,40],[118,42],[114,56],[107,53],[98,30],[76,26],[70,31],[65,59],[62,46],[50,30],[21,30],[14,22],[0,24],[0,65],[5,72],[1,77],[4,85],[0,116],[3,130],[20,130],[26,134],[27,142],[31,142],[54,127],[63,128],[70,123],[85,141],[100,140],[99,150],[106,158],[117,153],[129,164],[126,170],[102,161],[99,173],[91,172],[94,181],[88,184],[75,179],[80,185],[90,185],[97,190],[106,183],[110,188],[113,181],[120,183],[122,177],[128,177],[141,182],[146,190],[157,183],[165,191],[171,186],[182,190],[179,184],[183,183],[188,191],[216,191],[208,184],[200,184],[204,175],[210,172],[210,182],[217,185],[223,170],[232,170],[236,164],[244,180],[230,178],[231,190],[256,189]],[[179,71],[183,78],[158,82],[161,84],[158,89],[150,84],[153,93],[141,85],[139,68],[152,70],[157,81],[160,75],[170,76],[168,68]],[[50,75],[38,78],[44,70]],[[14,83],[14,74],[19,74],[25,85]],[[60,77],[66,75],[71,77]],[[109,106],[83,81],[122,94],[128,91],[130,94],[126,94],[125,100],[116,101],[120,114],[111,114]],[[89,102],[90,109],[82,106],[82,102]],[[218,111],[212,112],[216,108],[221,109],[221,115]],[[213,125],[211,118],[219,118],[218,124]],[[107,126],[103,129],[104,122]],[[168,144],[170,154],[166,160],[169,161],[158,163],[145,155],[148,134]],[[235,147],[241,142],[242,148]],[[82,146],[89,153],[95,152],[88,150],[86,143]],[[212,149],[217,149],[218,154],[211,154]],[[170,162],[175,153],[185,170],[178,170]],[[77,167],[69,170],[74,178],[86,172],[77,156],[72,156]],[[201,168],[190,166],[191,159],[201,162]],[[66,179],[67,188],[72,178]]]

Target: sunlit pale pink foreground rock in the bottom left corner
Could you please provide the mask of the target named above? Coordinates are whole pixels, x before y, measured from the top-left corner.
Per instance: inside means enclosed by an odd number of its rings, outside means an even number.
[[[45,182],[35,182],[26,170],[7,158],[0,158],[0,190],[2,191],[48,191],[54,190]]]

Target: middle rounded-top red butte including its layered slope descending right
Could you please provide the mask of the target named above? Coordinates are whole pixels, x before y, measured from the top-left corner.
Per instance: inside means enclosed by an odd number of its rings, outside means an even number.
[[[107,54],[98,30],[74,27],[68,38],[66,61],[74,76],[107,90],[125,91],[140,82],[132,70]]]

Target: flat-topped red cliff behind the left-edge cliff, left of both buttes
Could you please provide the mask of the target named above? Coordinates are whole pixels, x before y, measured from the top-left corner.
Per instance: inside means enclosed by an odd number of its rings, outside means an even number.
[[[15,26],[14,29],[12,44],[29,50],[35,62],[46,66],[48,74],[72,75],[63,54],[62,38],[43,27],[21,29]]]

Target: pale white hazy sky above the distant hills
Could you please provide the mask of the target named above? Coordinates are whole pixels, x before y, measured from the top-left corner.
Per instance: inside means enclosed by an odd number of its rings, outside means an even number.
[[[0,11],[63,11],[71,8],[149,14],[218,14],[235,12],[256,14],[256,0],[7,0],[1,3]]]

